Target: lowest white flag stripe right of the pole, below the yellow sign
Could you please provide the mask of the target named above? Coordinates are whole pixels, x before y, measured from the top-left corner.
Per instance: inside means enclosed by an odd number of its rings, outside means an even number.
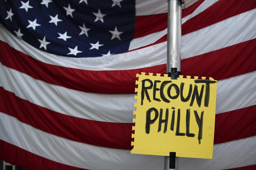
[[[232,120],[230,120],[232,121]],[[256,136],[213,145],[213,159],[179,158],[182,170],[219,170],[256,164]]]

